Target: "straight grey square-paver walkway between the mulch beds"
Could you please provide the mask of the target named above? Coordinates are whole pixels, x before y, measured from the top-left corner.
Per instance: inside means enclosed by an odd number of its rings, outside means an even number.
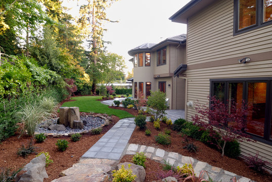
[[[119,160],[134,128],[134,118],[120,119],[82,157]]]

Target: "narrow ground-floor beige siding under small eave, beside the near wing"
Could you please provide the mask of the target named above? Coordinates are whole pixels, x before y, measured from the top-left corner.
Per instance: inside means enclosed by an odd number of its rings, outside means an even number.
[[[172,109],[185,109],[185,79],[173,78]]]

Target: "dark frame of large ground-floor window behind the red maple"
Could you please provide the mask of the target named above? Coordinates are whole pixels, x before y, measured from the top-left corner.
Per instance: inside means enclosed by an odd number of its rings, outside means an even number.
[[[265,120],[263,137],[248,133],[253,139],[272,146],[272,138],[270,139],[270,127],[272,119],[272,77],[258,77],[258,78],[222,78],[222,79],[210,79],[210,96],[213,96],[213,83],[224,82],[224,103],[228,100],[229,96],[229,83],[242,82],[243,83],[243,100],[248,101],[248,83],[250,82],[266,82],[266,106],[265,106]]]

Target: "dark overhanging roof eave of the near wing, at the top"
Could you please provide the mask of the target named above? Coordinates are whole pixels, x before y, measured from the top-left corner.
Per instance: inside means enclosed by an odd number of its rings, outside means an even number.
[[[187,24],[187,18],[199,12],[206,6],[210,5],[215,0],[192,0],[187,3],[182,9],[173,14],[169,20],[172,22]]]

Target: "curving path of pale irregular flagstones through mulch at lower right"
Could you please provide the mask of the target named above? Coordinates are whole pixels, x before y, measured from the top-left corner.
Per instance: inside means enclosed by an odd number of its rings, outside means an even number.
[[[192,163],[194,166],[195,174],[197,176],[199,176],[202,170],[205,170],[208,172],[209,176],[215,181],[222,180],[222,182],[225,182],[225,181],[229,182],[230,179],[233,177],[236,177],[237,179],[239,179],[240,182],[252,181],[249,178],[239,176],[235,173],[226,171],[219,167],[211,166],[206,162],[198,161],[192,157],[183,156],[175,152],[166,152],[162,149],[158,149],[158,148],[156,149],[154,147],[148,147],[148,146],[138,145],[138,144],[129,144],[125,154],[133,155],[136,152],[144,152],[145,155],[150,159],[153,159],[160,163],[164,163],[166,161],[174,166],[181,167],[185,163],[189,163],[189,164]],[[205,178],[208,179],[207,174],[205,174]]]

